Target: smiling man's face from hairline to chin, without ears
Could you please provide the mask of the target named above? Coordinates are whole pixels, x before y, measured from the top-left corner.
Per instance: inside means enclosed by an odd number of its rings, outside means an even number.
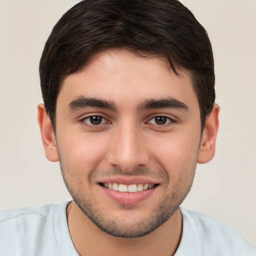
[[[128,50],[98,53],[65,78],[56,145],[74,201],[103,231],[145,235],[178,208],[192,184],[200,112],[190,74]]]

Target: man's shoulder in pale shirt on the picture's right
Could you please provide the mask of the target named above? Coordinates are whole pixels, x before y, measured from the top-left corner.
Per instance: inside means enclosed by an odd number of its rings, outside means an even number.
[[[180,210],[183,216],[180,246],[194,251],[194,255],[256,255],[253,247],[231,226],[197,211]]]

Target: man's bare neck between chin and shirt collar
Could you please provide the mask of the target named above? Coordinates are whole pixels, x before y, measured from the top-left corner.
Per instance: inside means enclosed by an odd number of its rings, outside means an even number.
[[[179,209],[154,231],[137,238],[121,238],[105,233],[73,201],[68,205],[66,214],[69,233],[80,256],[170,256],[174,255],[182,233]]]

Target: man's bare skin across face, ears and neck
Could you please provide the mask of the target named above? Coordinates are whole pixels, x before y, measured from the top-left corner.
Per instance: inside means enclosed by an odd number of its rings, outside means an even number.
[[[174,254],[182,232],[178,206],[190,189],[196,162],[214,155],[219,112],[214,105],[201,133],[190,73],[179,72],[182,78],[162,58],[106,50],[63,81],[56,136],[43,104],[38,105],[46,157],[60,161],[75,201],[67,219],[79,255]],[[99,105],[88,105],[91,98],[99,99]],[[145,107],[152,99],[165,103]],[[167,107],[166,99],[179,107]],[[103,118],[93,125],[91,116]],[[141,180],[157,185],[135,203],[128,193],[116,201],[101,185]]]

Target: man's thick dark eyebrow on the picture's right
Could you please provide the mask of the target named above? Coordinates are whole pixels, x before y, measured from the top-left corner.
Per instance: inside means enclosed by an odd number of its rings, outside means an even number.
[[[162,98],[162,99],[153,99],[149,98],[144,100],[140,105],[138,105],[138,111],[143,109],[152,109],[152,108],[176,108],[182,110],[188,110],[188,106],[172,97]]]

